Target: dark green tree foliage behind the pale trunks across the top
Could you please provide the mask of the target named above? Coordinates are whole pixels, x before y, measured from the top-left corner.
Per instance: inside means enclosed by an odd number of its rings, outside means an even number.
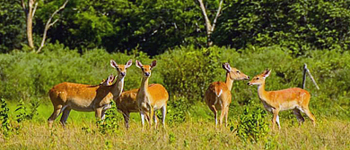
[[[39,1],[33,21],[36,46],[49,16],[63,3]],[[219,2],[204,3],[213,20]],[[25,15],[20,1],[5,0],[0,5],[0,50],[10,52],[26,42]],[[214,29],[214,45],[236,49],[280,45],[295,55],[315,48],[348,50],[349,6],[346,0],[226,0]],[[48,30],[49,41],[71,49],[138,48],[154,55],[177,46],[206,46],[206,25],[197,0],[74,0],[56,19]]]

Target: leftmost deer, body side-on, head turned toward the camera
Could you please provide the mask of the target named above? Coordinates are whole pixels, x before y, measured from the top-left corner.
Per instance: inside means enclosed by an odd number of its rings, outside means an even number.
[[[48,91],[50,100],[54,106],[54,112],[48,118],[48,127],[62,112],[60,123],[65,128],[69,112],[73,109],[78,112],[95,112],[95,117],[104,119],[104,113],[111,108],[110,102],[122,93],[124,78],[127,75],[127,68],[132,65],[129,60],[125,65],[118,65],[110,60],[110,65],[118,72],[117,81],[111,84],[116,78],[110,75],[100,85],[85,85],[78,83],[63,82],[52,87]]]

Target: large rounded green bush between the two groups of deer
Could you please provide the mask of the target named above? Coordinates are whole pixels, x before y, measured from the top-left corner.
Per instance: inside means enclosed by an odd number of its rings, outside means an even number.
[[[221,66],[217,53],[215,47],[199,50],[181,47],[159,55],[163,84],[170,95],[185,96],[190,103],[202,101]]]

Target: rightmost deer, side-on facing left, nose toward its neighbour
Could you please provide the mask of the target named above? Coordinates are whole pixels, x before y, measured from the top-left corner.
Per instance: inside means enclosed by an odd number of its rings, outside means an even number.
[[[304,112],[312,121],[313,126],[316,126],[316,119],[309,110],[310,93],[299,87],[291,87],[276,91],[265,90],[265,79],[270,75],[271,70],[263,71],[248,82],[249,86],[258,86],[258,97],[264,104],[267,112],[273,113],[272,129],[275,129],[277,123],[278,129],[281,129],[278,112],[293,110],[299,125],[302,124],[304,118],[301,112]]]

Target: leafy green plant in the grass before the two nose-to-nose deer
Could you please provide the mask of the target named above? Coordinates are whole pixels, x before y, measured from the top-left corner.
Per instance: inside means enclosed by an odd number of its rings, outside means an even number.
[[[249,139],[251,142],[258,142],[259,139],[266,137],[269,131],[266,116],[267,112],[258,106],[252,109],[246,107],[237,125],[237,136],[243,140]]]

